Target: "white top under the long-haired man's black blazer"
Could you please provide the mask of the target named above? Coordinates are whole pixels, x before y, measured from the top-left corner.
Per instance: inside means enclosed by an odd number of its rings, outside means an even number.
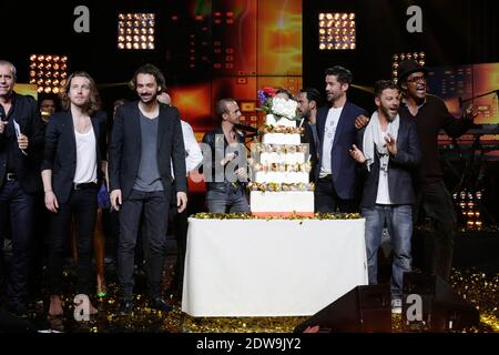
[[[77,184],[96,182],[96,150],[93,126],[86,133],[74,130],[77,139],[77,171],[73,182]]]

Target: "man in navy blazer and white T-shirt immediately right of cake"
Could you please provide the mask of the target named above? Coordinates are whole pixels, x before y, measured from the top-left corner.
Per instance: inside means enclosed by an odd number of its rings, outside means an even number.
[[[347,101],[352,72],[336,65],[326,69],[329,108],[317,111],[317,153],[315,211],[355,212],[355,161],[349,154],[356,142],[355,120],[367,112]]]

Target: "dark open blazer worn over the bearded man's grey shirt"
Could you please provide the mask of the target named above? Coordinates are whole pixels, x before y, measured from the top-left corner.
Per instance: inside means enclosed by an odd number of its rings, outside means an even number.
[[[177,192],[187,191],[185,148],[179,110],[160,105],[157,126],[157,169],[167,199],[172,191],[171,163]],[[125,200],[135,183],[142,152],[139,102],[128,102],[118,108],[114,116],[109,151],[110,190],[121,190]]]

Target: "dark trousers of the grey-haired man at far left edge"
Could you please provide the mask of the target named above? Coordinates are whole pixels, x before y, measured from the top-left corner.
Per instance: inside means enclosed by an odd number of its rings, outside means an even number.
[[[12,260],[10,282],[6,282],[7,275],[2,270],[0,284],[7,285],[9,307],[19,312],[26,311],[28,302],[33,211],[34,195],[24,192],[18,181],[6,181],[0,187],[0,256],[3,253],[3,240],[10,222]]]

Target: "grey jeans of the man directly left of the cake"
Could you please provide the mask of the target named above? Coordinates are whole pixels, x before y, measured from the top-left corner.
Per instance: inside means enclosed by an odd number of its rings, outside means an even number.
[[[206,204],[211,213],[248,213],[249,206],[243,187],[226,184],[225,192],[208,190]]]

